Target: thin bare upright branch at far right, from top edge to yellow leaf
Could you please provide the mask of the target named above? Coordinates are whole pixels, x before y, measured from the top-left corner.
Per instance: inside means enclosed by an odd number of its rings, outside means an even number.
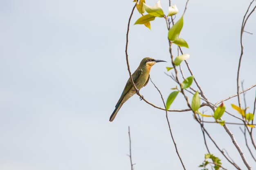
[[[254,2],[254,0],[252,2]],[[244,15],[242,26],[241,26],[241,33],[240,33],[241,54],[240,54],[240,58],[239,58],[239,62],[238,62],[238,70],[237,70],[237,78],[236,78],[237,97],[238,97],[239,107],[241,107],[240,93],[239,93],[239,72],[240,72],[240,66],[241,66],[241,61],[242,61],[242,57],[243,57],[243,49],[244,49],[244,47],[243,47],[243,33],[244,33],[244,29],[245,29],[245,24],[246,24],[248,18],[250,17],[250,15],[254,12],[254,10],[256,8],[256,5],[255,5],[255,7],[252,9],[252,11],[249,13],[249,15],[247,15],[247,13],[249,11],[249,8],[252,5],[252,2],[250,3],[250,5],[249,5],[249,7],[248,7],[248,9],[247,9],[247,11],[246,11],[246,13]],[[247,18],[245,19],[246,15],[247,15]]]

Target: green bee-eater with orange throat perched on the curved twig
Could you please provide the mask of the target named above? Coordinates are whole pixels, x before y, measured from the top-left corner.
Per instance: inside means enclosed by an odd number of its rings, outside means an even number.
[[[138,90],[140,90],[142,87],[146,86],[148,84],[149,80],[149,72],[150,69],[153,65],[155,65],[157,62],[166,62],[163,60],[155,60],[150,57],[146,57],[143,60],[141,60],[139,67],[137,70],[132,73],[132,79],[133,82],[135,83],[135,86],[137,87]],[[130,81],[130,78],[128,79],[126,86],[124,87],[124,91],[121,94],[120,99],[118,100],[116,104],[116,108],[112,115],[110,116],[109,121],[113,121],[121,108],[121,106],[130,98],[132,97],[136,92],[136,90],[132,86],[132,82]]]

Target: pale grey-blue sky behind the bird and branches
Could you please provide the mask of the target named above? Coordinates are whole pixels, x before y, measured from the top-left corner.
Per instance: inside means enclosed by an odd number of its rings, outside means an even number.
[[[147,0],[153,6],[156,0]],[[249,0],[190,0],[181,37],[191,69],[211,102],[236,93],[240,57],[240,27]],[[185,0],[177,4],[181,17]],[[168,1],[161,1],[168,12]],[[163,110],[131,97],[113,122],[115,109],[128,79],[125,60],[126,29],[134,3],[85,0],[0,0],[0,169],[1,170],[129,170],[128,126],[135,170],[181,170]],[[255,5],[255,3],[254,3]],[[166,100],[176,84],[167,77],[171,66],[164,19],[151,22],[151,30],[133,25],[128,46],[131,71],[144,57],[157,63],[150,77]],[[240,80],[256,84],[256,13],[245,27]],[[177,54],[175,54],[177,55]],[[185,76],[189,73],[182,64]],[[195,88],[195,84],[192,84]],[[140,93],[162,106],[151,82]],[[189,95],[190,99],[191,96]],[[253,112],[255,88],[246,94]],[[238,115],[230,104],[227,110]],[[186,108],[178,95],[171,109]],[[209,108],[201,108],[211,114]],[[191,112],[168,113],[177,148],[189,170],[200,170],[207,150],[200,126]],[[226,121],[235,121],[224,115]],[[212,121],[210,118],[209,121]],[[240,155],[224,128],[205,127],[242,168]],[[229,125],[249,164],[256,168],[239,126]],[[207,139],[210,151],[234,169]],[[250,145],[251,146],[251,145]],[[254,154],[256,152],[253,150]]]

